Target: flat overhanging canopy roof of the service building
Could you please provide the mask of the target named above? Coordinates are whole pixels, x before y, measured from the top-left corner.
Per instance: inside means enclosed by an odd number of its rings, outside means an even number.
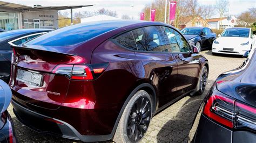
[[[44,11],[44,10],[66,10],[66,9],[77,9],[83,8],[86,6],[93,6],[93,5],[72,5],[72,6],[27,6],[21,5],[16,3],[9,3],[0,1],[0,8],[7,8],[17,11]]]

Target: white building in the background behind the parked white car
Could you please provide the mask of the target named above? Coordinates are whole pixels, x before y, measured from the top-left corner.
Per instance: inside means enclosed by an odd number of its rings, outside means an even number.
[[[226,27],[234,27],[237,25],[237,18],[234,16],[231,16],[230,20],[228,20],[227,17],[223,17],[206,19],[206,21],[210,24],[209,28],[217,30],[224,30]]]

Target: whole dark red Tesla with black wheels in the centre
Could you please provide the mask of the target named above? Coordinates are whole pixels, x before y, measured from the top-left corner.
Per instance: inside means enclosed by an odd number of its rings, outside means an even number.
[[[204,92],[208,62],[163,23],[77,24],[14,47],[12,105],[41,133],[139,141],[153,115]]]

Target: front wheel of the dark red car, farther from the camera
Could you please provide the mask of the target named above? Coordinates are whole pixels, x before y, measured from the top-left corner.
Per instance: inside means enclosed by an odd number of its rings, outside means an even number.
[[[205,91],[206,88],[206,83],[207,83],[207,78],[208,78],[208,69],[206,66],[204,66],[201,69],[201,73],[199,76],[199,80],[198,80],[198,91],[194,92],[193,94],[190,94],[191,97],[193,96],[198,96],[198,95],[202,95]]]

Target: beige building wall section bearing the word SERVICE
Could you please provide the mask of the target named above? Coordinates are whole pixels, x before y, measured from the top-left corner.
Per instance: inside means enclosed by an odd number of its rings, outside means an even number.
[[[32,22],[34,23],[34,27],[37,27],[39,22],[39,28],[58,28],[58,11],[48,10],[24,12],[24,28],[28,28],[28,24],[29,28],[33,28],[33,26],[31,26]]]

